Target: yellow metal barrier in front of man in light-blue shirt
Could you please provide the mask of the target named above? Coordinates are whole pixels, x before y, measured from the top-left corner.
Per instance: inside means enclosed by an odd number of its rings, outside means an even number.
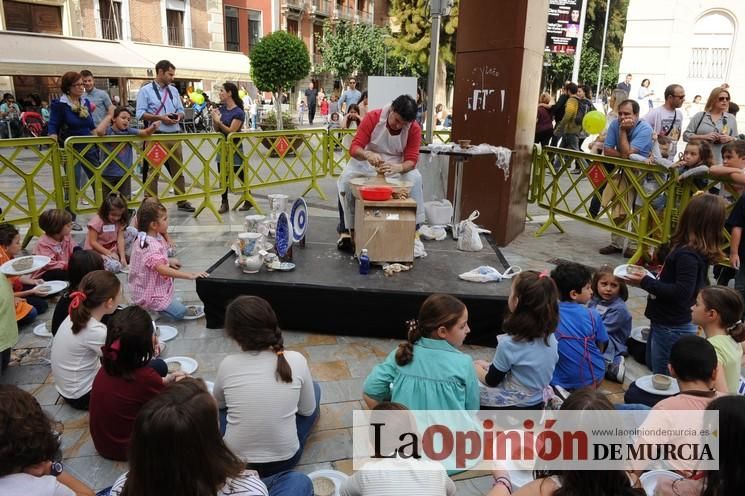
[[[95,212],[106,192],[125,192],[131,186],[132,205],[139,205],[148,195],[157,196],[163,203],[195,200],[200,201],[195,217],[207,208],[220,219],[211,197],[225,191],[217,169],[218,158],[222,161],[226,153],[224,143],[220,133],[155,134],[146,139],[70,137],[64,150],[70,210]],[[76,167],[82,167],[84,177],[80,188],[73,179]],[[159,178],[168,178],[161,193]],[[90,206],[81,207],[81,202]]]

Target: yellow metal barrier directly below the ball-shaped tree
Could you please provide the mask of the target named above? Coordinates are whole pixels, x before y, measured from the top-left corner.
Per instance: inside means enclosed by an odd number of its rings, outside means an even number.
[[[232,133],[224,163],[240,165],[222,168],[224,184],[241,195],[239,203],[248,201],[259,213],[252,189],[308,181],[303,195],[315,190],[325,200],[318,179],[326,175],[326,136],[317,129]]]

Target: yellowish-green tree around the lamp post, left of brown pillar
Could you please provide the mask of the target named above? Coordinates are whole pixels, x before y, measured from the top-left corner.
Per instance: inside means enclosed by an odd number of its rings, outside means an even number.
[[[460,0],[455,0],[450,15],[442,18],[435,102],[445,102],[448,75],[452,77],[455,73],[455,35],[458,30],[459,4]],[[403,65],[410,71],[407,75],[415,75],[425,81],[429,73],[432,31],[429,0],[392,0],[389,15],[401,28],[390,42],[389,58],[394,61],[397,58],[403,60]]]

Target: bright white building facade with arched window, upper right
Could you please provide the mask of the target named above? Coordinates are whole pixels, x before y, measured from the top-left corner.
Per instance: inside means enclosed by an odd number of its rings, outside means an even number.
[[[744,22],[742,0],[631,0],[619,74],[633,75],[632,97],[649,79],[657,103],[670,83],[685,87],[688,103],[695,95],[706,102],[712,88],[728,83],[733,100],[745,103],[745,67],[737,63]]]

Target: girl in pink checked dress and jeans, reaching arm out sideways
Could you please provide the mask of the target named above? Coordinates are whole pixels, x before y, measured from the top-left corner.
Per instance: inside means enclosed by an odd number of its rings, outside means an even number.
[[[208,277],[206,272],[184,272],[181,263],[168,258],[168,244],[162,238],[168,232],[168,210],[161,203],[143,203],[137,211],[141,232],[132,248],[129,286],[132,302],[146,310],[161,312],[174,320],[199,318],[204,310],[187,308],[175,297],[173,279],[194,280]]]

